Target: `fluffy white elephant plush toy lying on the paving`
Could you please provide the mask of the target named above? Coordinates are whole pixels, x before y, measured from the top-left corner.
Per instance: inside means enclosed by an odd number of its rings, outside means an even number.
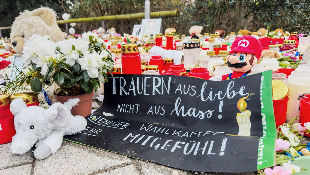
[[[70,99],[64,104],[56,102],[50,108],[27,107],[23,99],[11,103],[16,134],[13,136],[10,151],[12,154],[25,154],[36,143],[34,157],[42,160],[55,153],[61,146],[64,135],[82,131],[87,121],[82,116],[70,112],[79,99]]]

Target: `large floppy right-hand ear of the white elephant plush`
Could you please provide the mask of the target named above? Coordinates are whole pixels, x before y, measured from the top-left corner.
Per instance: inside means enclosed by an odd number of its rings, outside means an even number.
[[[55,103],[45,112],[48,122],[51,122],[55,128],[67,127],[71,122],[72,114],[70,110],[61,103]]]

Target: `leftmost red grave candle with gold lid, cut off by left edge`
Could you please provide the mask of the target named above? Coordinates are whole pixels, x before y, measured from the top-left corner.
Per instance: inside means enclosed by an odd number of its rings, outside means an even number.
[[[0,144],[9,143],[16,134],[14,115],[10,111],[11,97],[9,94],[0,94]]]

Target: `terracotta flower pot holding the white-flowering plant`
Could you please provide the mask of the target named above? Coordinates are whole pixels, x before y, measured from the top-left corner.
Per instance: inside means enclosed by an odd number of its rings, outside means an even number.
[[[74,96],[58,96],[55,95],[55,101],[64,103],[69,99],[78,98],[80,102],[71,109],[71,113],[73,116],[80,115],[83,117],[87,117],[91,115],[91,99],[94,96],[94,91],[90,94],[82,94],[82,95],[74,95]]]

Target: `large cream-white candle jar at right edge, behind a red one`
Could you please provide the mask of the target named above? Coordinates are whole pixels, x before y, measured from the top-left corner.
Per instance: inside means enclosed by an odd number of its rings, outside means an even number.
[[[289,100],[287,103],[286,122],[299,116],[300,99],[310,94],[310,70],[295,70],[288,76],[287,87],[289,89]],[[309,115],[309,114],[308,114]],[[298,122],[298,120],[296,120]]]

